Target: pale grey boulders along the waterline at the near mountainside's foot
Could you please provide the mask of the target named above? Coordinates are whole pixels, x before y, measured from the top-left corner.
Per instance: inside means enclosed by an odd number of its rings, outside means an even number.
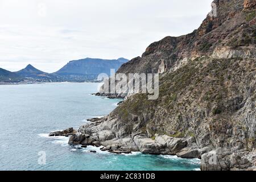
[[[151,155],[176,155],[186,159],[199,158],[202,171],[256,170],[256,151],[232,151],[229,148],[214,148],[210,145],[200,148],[193,137],[185,139],[155,134],[154,137],[147,138],[139,133],[122,137],[122,133],[113,132],[117,119],[104,117],[89,120],[92,122],[82,125],[79,130],[69,128],[50,133],[49,136],[70,137],[68,144],[71,146],[104,146],[100,148],[101,151],[113,154],[142,152]]]

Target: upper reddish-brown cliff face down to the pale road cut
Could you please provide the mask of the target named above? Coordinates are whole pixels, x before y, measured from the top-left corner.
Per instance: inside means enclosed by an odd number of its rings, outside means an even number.
[[[119,73],[157,73],[170,71],[184,58],[256,57],[255,1],[213,1],[213,12],[198,30],[191,34],[171,37],[152,43],[143,53],[122,65]],[[245,3],[245,5],[243,5]],[[214,10],[216,9],[216,10]],[[215,14],[216,13],[216,14]]]

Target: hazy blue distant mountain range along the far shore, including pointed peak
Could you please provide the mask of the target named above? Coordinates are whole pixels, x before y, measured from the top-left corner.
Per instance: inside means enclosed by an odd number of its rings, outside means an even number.
[[[31,64],[18,72],[10,72],[0,68],[0,82],[84,82],[97,79],[100,73],[110,75],[110,69],[117,71],[122,64],[129,60],[119,58],[117,60],[104,60],[86,58],[69,61],[63,68],[55,73],[46,73],[36,69]]]

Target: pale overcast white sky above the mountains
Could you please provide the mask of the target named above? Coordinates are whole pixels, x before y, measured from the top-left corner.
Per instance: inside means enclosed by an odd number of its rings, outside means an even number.
[[[55,72],[86,57],[133,59],[198,28],[213,0],[0,0],[0,68]]]

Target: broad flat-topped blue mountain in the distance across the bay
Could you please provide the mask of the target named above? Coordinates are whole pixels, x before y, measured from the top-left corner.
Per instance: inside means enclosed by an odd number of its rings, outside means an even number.
[[[117,60],[92,59],[86,58],[81,60],[70,61],[59,71],[53,73],[67,79],[96,79],[101,73],[110,75],[110,69],[117,71],[122,64],[127,63],[127,59],[119,58]]]

